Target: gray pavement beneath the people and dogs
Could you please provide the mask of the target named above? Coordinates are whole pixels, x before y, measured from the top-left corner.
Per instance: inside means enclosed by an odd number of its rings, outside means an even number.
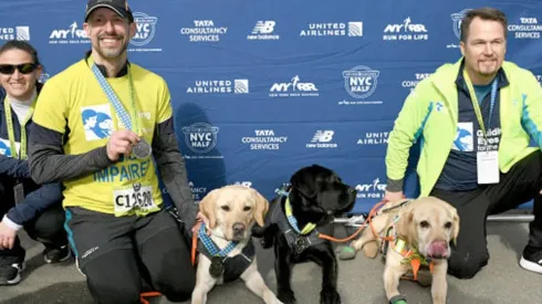
[[[337,237],[344,231],[337,229]],[[522,270],[519,258],[528,240],[524,223],[491,222],[488,224],[488,242],[491,259],[477,276],[457,280],[448,276],[448,303],[541,303],[542,275]],[[73,262],[48,265],[43,262],[43,245],[23,238],[28,249],[27,270],[23,281],[15,286],[0,286],[0,304],[93,303],[81,275]],[[258,247],[259,269],[271,290],[275,291],[272,269],[273,253]],[[340,262],[338,289],[345,304],[385,304],[379,259],[369,260],[358,255],[353,261]],[[313,263],[296,265],[292,285],[298,303],[319,303],[321,271]],[[429,287],[402,281],[399,286],[408,303],[431,303]],[[152,303],[170,303],[157,298]],[[241,282],[217,286],[211,291],[208,303],[263,303]]]

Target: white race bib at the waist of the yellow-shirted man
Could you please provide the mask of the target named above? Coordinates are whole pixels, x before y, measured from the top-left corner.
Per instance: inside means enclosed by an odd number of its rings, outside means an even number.
[[[153,187],[140,184],[135,184],[131,188],[114,190],[113,201],[117,217],[127,216],[133,213],[132,211],[144,214],[158,209],[153,200]]]

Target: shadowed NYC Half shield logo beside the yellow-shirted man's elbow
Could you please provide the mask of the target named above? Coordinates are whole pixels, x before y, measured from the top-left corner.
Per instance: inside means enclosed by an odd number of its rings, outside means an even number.
[[[217,134],[219,128],[206,123],[196,123],[183,127],[185,143],[196,154],[209,153],[217,146]]]

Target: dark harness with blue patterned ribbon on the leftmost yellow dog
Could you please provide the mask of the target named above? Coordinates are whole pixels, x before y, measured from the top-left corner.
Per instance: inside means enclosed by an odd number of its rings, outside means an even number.
[[[201,224],[204,228],[204,224]],[[252,242],[252,239],[247,243],[247,245],[242,249],[241,253],[234,256],[228,256],[228,253],[233,250],[237,245],[237,242],[230,242],[225,249],[220,249],[212,239],[205,233],[200,233],[198,235],[198,251],[204,253],[209,260],[217,259],[220,256],[221,263],[223,265],[223,282],[229,283],[238,280],[241,274],[250,266],[252,260],[256,255],[256,247]]]

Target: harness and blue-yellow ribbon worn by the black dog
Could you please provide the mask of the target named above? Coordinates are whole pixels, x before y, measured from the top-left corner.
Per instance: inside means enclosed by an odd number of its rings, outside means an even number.
[[[292,213],[292,207],[289,198],[290,192],[288,191],[289,187],[289,184],[284,184],[281,189],[275,190],[275,192],[283,198],[272,207],[273,210],[271,211],[270,222],[277,223],[279,230],[286,238],[286,243],[290,249],[299,255],[308,248],[324,242],[325,240],[319,238],[319,234],[333,233],[333,227],[331,221],[324,224],[315,224],[310,222],[300,229],[298,227],[298,220]],[[284,206],[284,210],[282,210],[282,206]]]

